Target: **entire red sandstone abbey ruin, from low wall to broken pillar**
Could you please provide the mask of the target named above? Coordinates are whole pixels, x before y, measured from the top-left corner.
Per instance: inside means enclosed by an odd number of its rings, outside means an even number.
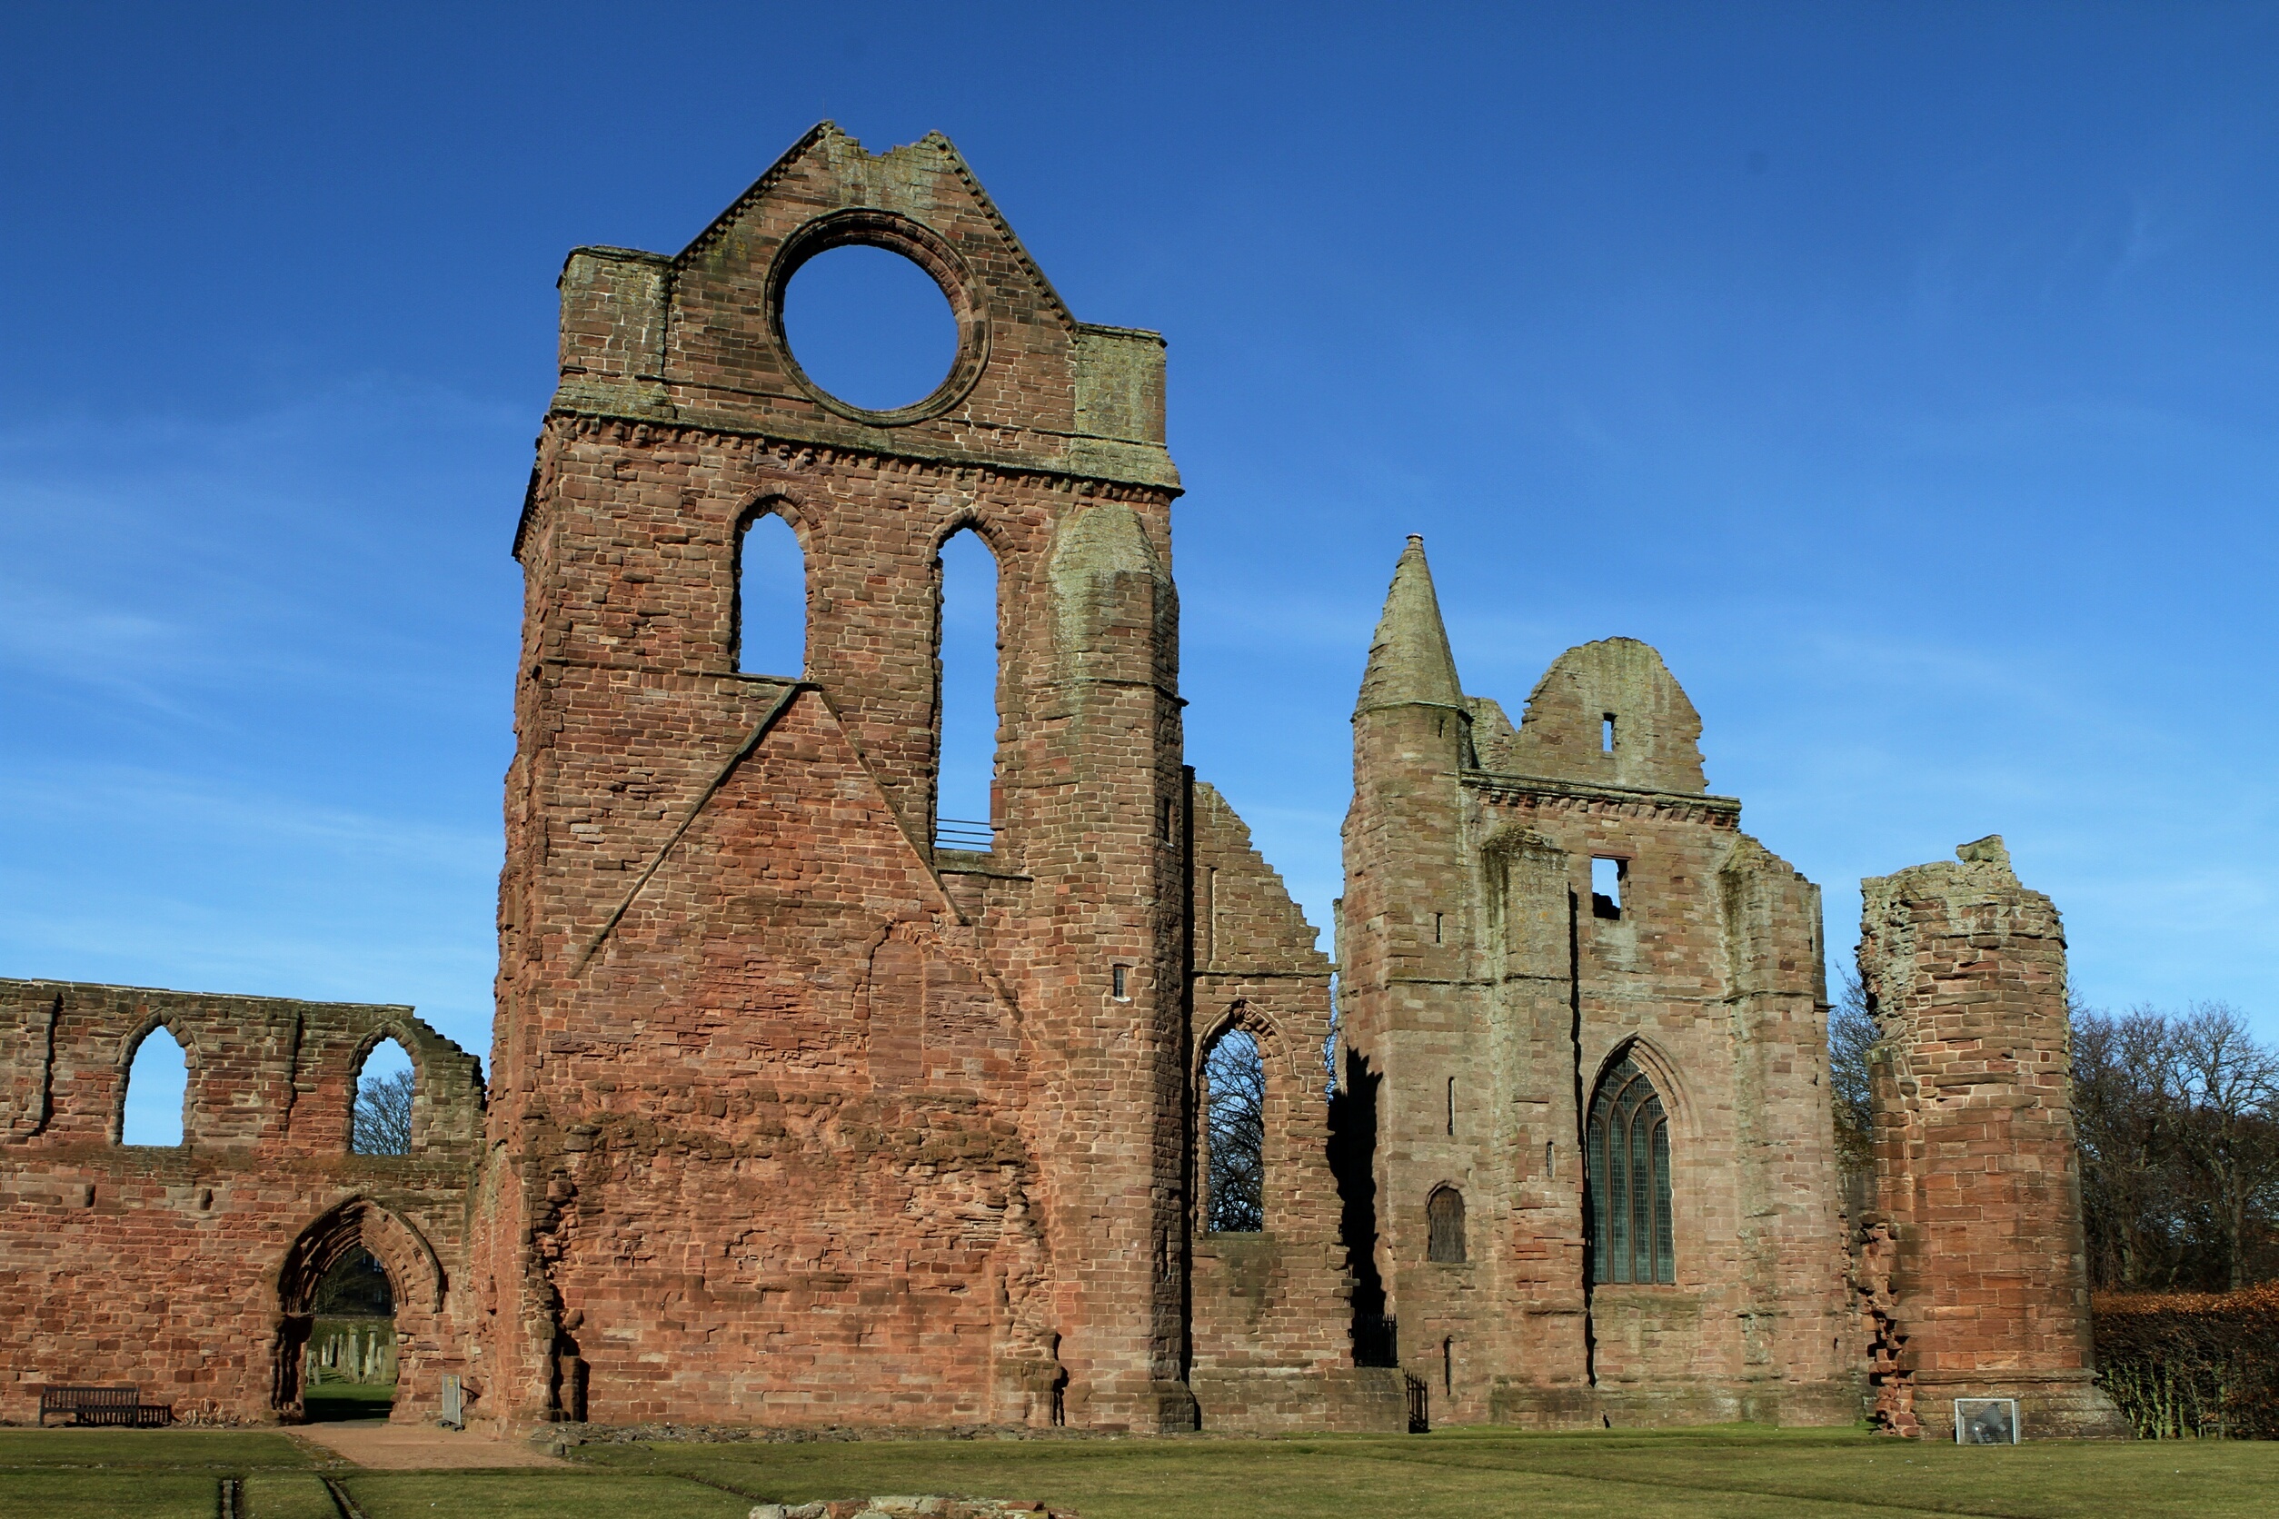
[[[896,412],[782,301],[850,246],[959,348]],[[1846,1212],[1819,888],[1707,793],[1645,644],[1463,692],[1411,540],[1354,711],[1338,961],[1183,763],[1165,348],[1078,321],[941,137],[795,143],[679,255],[579,248],[524,569],[497,1025],[0,982],[0,1419],[52,1382],[303,1410],[317,1282],[394,1294],[394,1419],[2119,1432],[2092,1385],[2065,941],[1999,840],[1867,884]],[[782,519],[804,670],[738,660]],[[980,834],[937,797],[941,549],[998,567]],[[1335,1000],[1333,1000],[1335,993]],[[1338,1009],[1333,1016],[1333,1007]],[[185,1143],[121,1143],[166,1027]],[[1212,1227],[1212,1052],[1260,1070]],[[358,1155],[358,1070],[417,1073]],[[1324,1050],[1335,1050],[1335,1073]]]

